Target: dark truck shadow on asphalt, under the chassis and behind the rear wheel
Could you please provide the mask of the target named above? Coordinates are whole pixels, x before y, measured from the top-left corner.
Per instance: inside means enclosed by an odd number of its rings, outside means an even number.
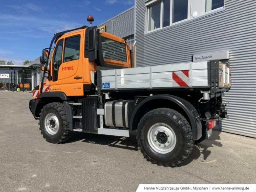
[[[72,143],[82,140],[85,143],[95,143],[99,145],[107,145],[109,147],[123,148],[128,150],[138,151],[138,144],[136,140],[136,131],[133,131],[130,134],[129,138],[125,137],[117,137],[110,135],[96,135],[91,133],[81,133],[75,132],[72,139],[67,141],[66,143]],[[214,130],[212,137],[209,140],[204,140],[201,143],[197,143],[194,146],[194,149],[191,155],[186,159],[182,164],[178,165],[184,166],[191,163],[193,160],[198,159],[201,155],[203,155],[204,161],[211,155],[211,148],[213,147],[222,147],[220,142],[220,131]]]

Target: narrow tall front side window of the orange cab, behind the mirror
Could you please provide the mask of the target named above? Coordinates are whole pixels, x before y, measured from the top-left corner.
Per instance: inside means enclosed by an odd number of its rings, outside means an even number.
[[[56,45],[56,49],[53,55],[53,69],[52,69],[52,81],[58,80],[58,72],[60,65],[62,63],[62,48],[63,48],[63,39],[61,39]]]

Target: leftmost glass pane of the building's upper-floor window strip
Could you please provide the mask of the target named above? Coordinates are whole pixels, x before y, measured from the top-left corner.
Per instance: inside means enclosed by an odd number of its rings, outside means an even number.
[[[161,2],[148,7],[149,11],[149,31],[160,28],[161,23]]]

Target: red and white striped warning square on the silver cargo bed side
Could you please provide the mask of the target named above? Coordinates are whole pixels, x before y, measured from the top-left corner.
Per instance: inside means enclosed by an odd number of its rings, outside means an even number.
[[[173,71],[172,72],[173,87],[188,87],[189,86],[189,70]]]

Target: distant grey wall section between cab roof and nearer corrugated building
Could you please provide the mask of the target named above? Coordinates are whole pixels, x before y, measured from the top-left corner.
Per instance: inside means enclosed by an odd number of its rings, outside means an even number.
[[[134,34],[134,7],[120,13],[114,18],[99,25],[99,27],[106,25],[107,32],[112,33],[121,38],[131,36]]]

